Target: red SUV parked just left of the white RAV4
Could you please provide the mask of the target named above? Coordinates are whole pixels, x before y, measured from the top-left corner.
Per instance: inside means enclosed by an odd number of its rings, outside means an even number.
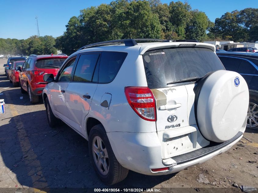
[[[20,73],[21,93],[28,92],[31,103],[37,103],[47,82],[43,80],[45,74],[56,76],[59,68],[68,58],[65,55],[30,55],[24,62]],[[18,67],[19,68],[19,67]]]

